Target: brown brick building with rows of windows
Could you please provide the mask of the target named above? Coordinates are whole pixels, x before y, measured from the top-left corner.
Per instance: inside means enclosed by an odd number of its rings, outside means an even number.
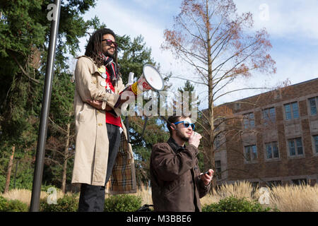
[[[318,183],[318,78],[220,107],[235,120],[216,129],[218,184]]]

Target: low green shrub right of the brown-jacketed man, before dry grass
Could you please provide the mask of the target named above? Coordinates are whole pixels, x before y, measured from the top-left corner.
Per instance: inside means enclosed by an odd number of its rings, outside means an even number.
[[[202,208],[203,212],[268,212],[271,208],[261,206],[257,201],[230,196]]]

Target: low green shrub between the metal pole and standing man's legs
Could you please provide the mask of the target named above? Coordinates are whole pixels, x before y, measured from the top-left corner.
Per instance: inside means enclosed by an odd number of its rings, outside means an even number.
[[[75,195],[66,195],[57,199],[57,204],[47,203],[47,198],[40,200],[41,212],[76,212],[78,210],[78,198]]]

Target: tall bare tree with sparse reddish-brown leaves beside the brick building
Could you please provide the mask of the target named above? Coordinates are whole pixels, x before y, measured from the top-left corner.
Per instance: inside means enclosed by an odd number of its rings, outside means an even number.
[[[192,82],[208,88],[208,111],[202,115],[207,122],[205,150],[213,168],[214,125],[218,120],[214,103],[228,93],[251,89],[224,91],[236,78],[252,76],[254,71],[276,73],[266,30],[252,32],[252,13],[238,15],[236,11],[232,0],[184,0],[172,30],[164,32],[162,44],[162,49],[170,50],[194,69]]]

